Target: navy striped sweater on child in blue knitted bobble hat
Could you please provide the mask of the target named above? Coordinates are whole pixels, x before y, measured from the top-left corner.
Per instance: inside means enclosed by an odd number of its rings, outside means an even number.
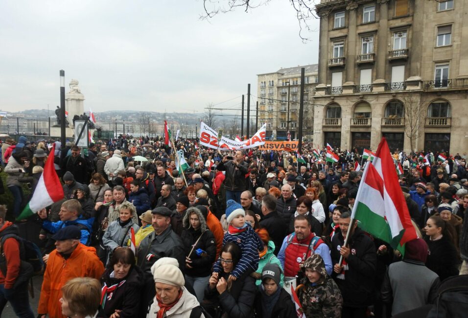
[[[242,256],[231,272],[231,275],[239,278],[249,269],[249,267],[253,271],[256,271],[258,269],[259,260],[258,251],[263,250],[263,243],[261,242],[257,233],[255,233],[255,230],[252,228],[252,226],[248,225],[245,231],[238,234],[231,234],[229,231],[226,232],[223,238],[223,246],[229,242],[234,242],[237,244],[242,251]],[[222,271],[219,259],[216,261],[216,263],[214,263],[213,269],[216,273]]]

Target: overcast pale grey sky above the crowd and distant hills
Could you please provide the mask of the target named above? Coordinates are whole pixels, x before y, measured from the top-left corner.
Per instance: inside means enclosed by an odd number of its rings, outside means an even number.
[[[60,69],[85,111],[201,112],[247,83],[256,95],[258,73],[318,61],[319,21],[304,44],[287,0],[209,22],[202,0],[2,0],[0,12],[3,111],[55,108]]]

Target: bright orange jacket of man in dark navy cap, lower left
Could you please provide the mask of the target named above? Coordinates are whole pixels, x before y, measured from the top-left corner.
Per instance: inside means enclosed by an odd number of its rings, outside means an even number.
[[[56,249],[53,250],[47,261],[37,312],[42,315],[47,314],[49,318],[66,318],[62,315],[59,301],[63,285],[75,277],[100,279],[103,272],[104,266],[97,257],[94,247],[79,243],[67,260],[57,253]]]

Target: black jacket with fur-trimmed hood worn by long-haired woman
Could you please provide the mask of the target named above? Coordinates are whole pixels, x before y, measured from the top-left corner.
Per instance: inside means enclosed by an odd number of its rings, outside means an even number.
[[[198,220],[200,220],[200,228],[198,230],[194,230],[190,225],[189,215],[192,212],[194,212],[198,216]],[[192,261],[190,264],[192,269],[186,268],[185,273],[194,277],[210,276],[211,265],[213,265],[216,260],[216,242],[214,240],[213,233],[208,229],[205,217],[199,209],[190,207],[187,209],[184,219],[182,219],[182,225],[184,226],[184,230],[181,235],[182,242],[184,242],[186,256],[190,257],[190,260]],[[198,238],[200,238],[200,240],[198,240]],[[188,255],[192,248],[192,253]],[[198,248],[205,251],[204,255],[199,256],[196,253]]]

